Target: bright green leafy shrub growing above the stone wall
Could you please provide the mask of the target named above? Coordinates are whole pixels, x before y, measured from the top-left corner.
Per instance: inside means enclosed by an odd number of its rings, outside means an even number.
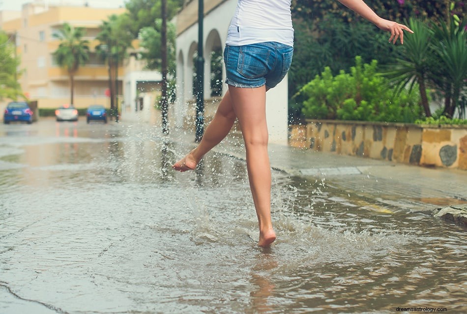
[[[302,113],[312,119],[356,121],[414,122],[422,118],[417,93],[395,94],[388,80],[381,76],[378,62],[362,64],[355,58],[350,73],[332,76],[326,67],[296,95],[303,102]]]

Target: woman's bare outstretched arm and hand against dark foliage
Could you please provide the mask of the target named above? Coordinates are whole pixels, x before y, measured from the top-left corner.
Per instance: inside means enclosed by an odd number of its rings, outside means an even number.
[[[401,44],[404,44],[404,30],[413,33],[407,26],[399,24],[393,21],[385,20],[379,17],[363,0],[338,0],[355,13],[361,15],[371,23],[375,24],[381,30],[389,31],[391,37],[389,41],[393,44],[396,43],[397,39],[401,39]]]

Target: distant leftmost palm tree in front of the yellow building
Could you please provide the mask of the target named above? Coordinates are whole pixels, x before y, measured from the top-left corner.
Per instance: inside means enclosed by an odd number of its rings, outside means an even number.
[[[74,101],[75,74],[89,60],[88,40],[83,39],[84,35],[84,28],[74,28],[68,23],[64,23],[63,28],[54,33],[60,44],[53,55],[57,64],[65,67],[70,77],[70,104]]]

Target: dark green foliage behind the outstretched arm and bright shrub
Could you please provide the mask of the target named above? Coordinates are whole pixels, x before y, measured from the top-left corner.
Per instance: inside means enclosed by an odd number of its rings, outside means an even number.
[[[401,21],[409,17],[423,20],[465,20],[463,0],[373,0],[372,9],[380,16]],[[325,66],[337,75],[341,69],[348,71],[355,56],[362,56],[366,63],[378,60],[378,64],[394,64],[398,52],[407,45],[413,34],[405,36],[403,46],[388,45],[388,34],[359,17],[335,0],[292,0],[292,18],[295,29],[294,55],[289,72],[289,95],[296,94],[303,86],[320,74]],[[416,31],[416,34],[423,32]],[[402,49],[401,49],[402,48]],[[435,65],[438,66],[438,65]],[[412,81],[410,81],[411,83]],[[426,85],[429,85],[428,82]],[[414,85],[425,90],[423,84]],[[461,97],[462,98],[462,97]],[[422,103],[427,104],[427,99]],[[459,107],[459,105],[458,105]],[[425,113],[428,113],[427,106]],[[461,108],[462,105],[461,105]],[[289,101],[291,120],[298,120],[301,102]]]

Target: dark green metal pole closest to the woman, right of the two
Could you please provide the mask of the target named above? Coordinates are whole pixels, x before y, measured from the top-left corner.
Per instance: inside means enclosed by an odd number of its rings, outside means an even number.
[[[204,133],[204,53],[203,53],[204,0],[198,0],[198,58],[196,62],[196,137],[200,142]]]

